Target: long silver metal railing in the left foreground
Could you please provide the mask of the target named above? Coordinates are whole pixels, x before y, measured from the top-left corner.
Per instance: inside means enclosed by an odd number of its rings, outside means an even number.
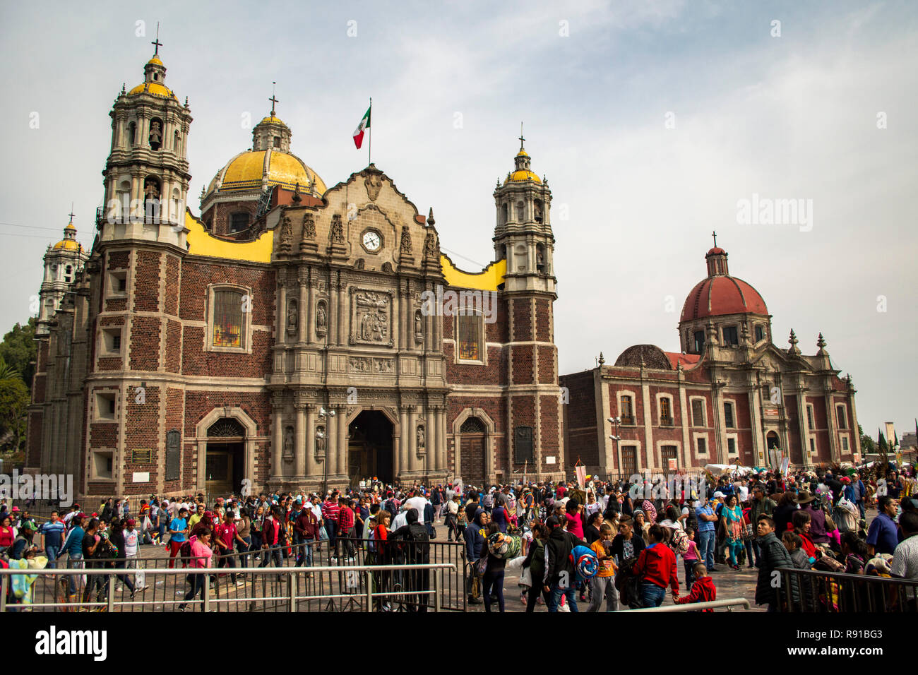
[[[86,569],[0,569],[0,612],[322,612],[393,611],[391,603],[405,602],[418,612],[441,612],[442,572],[452,565],[333,566],[328,568],[241,568],[241,585],[223,588],[214,568],[144,570],[153,592],[113,591],[123,570]],[[425,588],[385,588],[376,581],[386,575],[424,575]],[[33,577],[37,585],[66,589],[71,579],[85,577],[82,596],[36,599],[23,581]],[[208,579],[209,578],[209,579]],[[157,597],[159,595],[160,597]],[[22,602],[25,600],[26,602]],[[341,610],[338,605],[344,605]]]

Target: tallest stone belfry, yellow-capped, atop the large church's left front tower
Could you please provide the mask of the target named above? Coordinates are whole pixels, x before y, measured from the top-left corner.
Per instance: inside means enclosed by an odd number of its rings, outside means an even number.
[[[166,68],[155,52],[143,66],[143,82],[121,92],[112,118],[105,176],[105,207],[96,215],[100,241],[143,239],[185,249],[188,173],[188,101],[179,103],[165,84]]]

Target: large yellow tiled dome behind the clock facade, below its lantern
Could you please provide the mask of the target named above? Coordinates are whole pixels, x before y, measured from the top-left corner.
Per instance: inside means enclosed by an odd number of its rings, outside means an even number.
[[[312,188],[311,191],[318,195],[323,195],[328,189],[319,174],[309,168],[297,155],[288,152],[258,150],[241,152],[229,160],[229,163],[210,181],[210,185],[207,186],[207,194],[215,191],[218,179],[221,193],[261,190],[265,169],[267,183],[270,186],[281,186],[294,190],[299,183],[300,191],[304,194],[307,193],[309,186]]]

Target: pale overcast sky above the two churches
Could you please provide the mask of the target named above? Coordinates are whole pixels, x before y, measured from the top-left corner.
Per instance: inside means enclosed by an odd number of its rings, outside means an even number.
[[[270,110],[272,81],[293,152],[329,186],[367,163],[351,136],[373,96],[375,164],[434,208],[443,250],[476,271],[493,258],[492,193],[524,120],[554,195],[562,374],[635,343],[677,351],[716,230],[778,347],[793,328],[814,354],[823,332],[865,431],[913,430],[914,3],[5,3],[4,331],[28,319],[71,202],[93,242],[108,112],[122,83],[142,82],[157,21],[166,84],[195,118],[194,213],[251,147],[244,119]],[[812,200],[812,221],[738,222],[753,195]]]

